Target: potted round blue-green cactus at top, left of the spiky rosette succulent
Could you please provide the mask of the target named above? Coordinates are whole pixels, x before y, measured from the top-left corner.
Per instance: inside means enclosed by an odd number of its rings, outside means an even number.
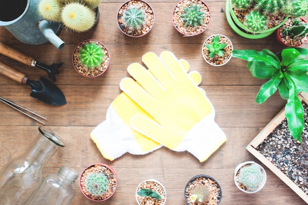
[[[144,0],[129,0],[123,3],[117,15],[120,30],[130,37],[141,37],[154,25],[154,12]]]

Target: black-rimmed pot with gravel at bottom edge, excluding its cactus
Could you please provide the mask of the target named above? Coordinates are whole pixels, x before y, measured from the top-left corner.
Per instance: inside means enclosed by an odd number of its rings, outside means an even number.
[[[197,176],[194,176],[191,179],[189,179],[188,182],[186,183],[186,186],[185,186],[185,189],[184,189],[184,199],[185,199],[186,205],[195,205],[194,202],[191,202],[191,198],[192,198],[191,195],[194,194],[193,189],[195,189],[198,186],[204,187],[205,185],[213,186],[212,187],[213,191],[209,192],[209,195],[208,195],[206,202],[211,201],[211,205],[212,204],[214,205],[215,203],[216,203],[215,205],[220,204],[221,199],[222,199],[222,191],[221,191],[221,187],[218,184],[218,182],[212,176],[197,175]],[[198,199],[196,199],[196,200],[198,200]]]

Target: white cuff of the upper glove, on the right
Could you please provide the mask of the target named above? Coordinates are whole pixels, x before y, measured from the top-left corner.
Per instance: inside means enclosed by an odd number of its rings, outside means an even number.
[[[209,116],[193,126],[174,150],[187,150],[200,162],[207,160],[227,140],[226,135],[216,124],[214,117],[215,112],[211,112]]]

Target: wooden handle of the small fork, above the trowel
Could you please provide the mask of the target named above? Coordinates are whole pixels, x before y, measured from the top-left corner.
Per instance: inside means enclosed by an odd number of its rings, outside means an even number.
[[[33,58],[26,56],[25,54],[16,51],[15,49],[12,49],[11,47],[3,43],[0,43],[0,54],[3,54],[4,56],[17,60],[29,66],[31,66],[31,62],[33,60]]]

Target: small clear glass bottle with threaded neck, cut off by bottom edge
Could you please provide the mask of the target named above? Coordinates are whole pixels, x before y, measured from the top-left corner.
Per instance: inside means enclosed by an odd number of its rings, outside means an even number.
[[[68,205],[75,196],[74,182],[78,173],[68,166],[62,166],[58,174],[46,176],[28,205]]]

